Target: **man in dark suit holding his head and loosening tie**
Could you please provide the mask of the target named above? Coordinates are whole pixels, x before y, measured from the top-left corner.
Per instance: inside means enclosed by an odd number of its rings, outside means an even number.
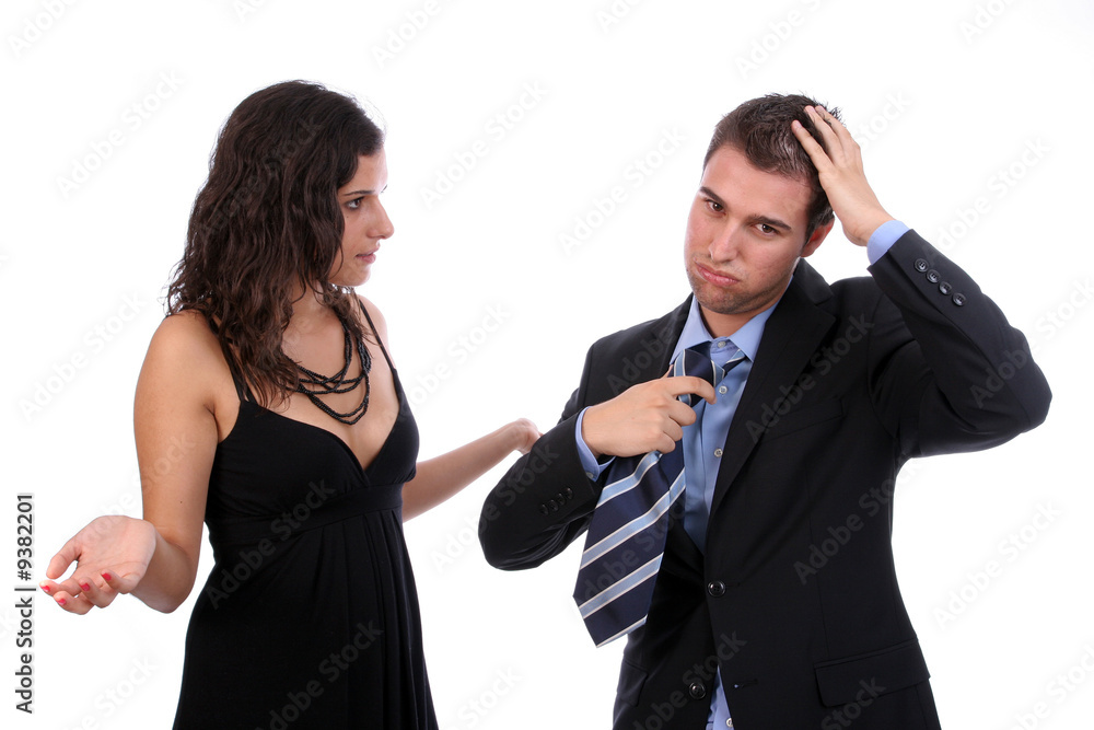
[[[833,211],[871,277],[829,286],[804,260]],[[615,728],[938,728],[894,572],[891,486],[908,459],[1044,420],[1025,338],[885,212],[858,144],[804,96],[719,123],[684,253],[693,296],[594,344],[559,425],[487,498],[487,559],[531,568],[592,535],[605,485],[627,482],[617,466],[678,449],[649,609],[618,631]],[[695,346],[728,371],[717,391],[663,376]],[[644,560],[622,555],[613,579]],[[604,588],[582,580],[579,603]]]

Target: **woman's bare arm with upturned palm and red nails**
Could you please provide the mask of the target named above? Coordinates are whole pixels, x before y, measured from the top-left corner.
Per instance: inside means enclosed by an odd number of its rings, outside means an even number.
[[[54,556],[42,588],[70,613],[132,593],[171,612],[197,575],[209,474],[218,442],[213,386],[226,370],[216,337],[196,313],[163,321],[137,383],[133,428],[143,520],[101,517]],[[75,561],[72,575],[55,582]]]

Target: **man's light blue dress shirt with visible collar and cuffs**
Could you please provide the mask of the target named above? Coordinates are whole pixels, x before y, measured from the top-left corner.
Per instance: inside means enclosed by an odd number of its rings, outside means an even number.
[[[908,227],[900,221],[892,220],[883,223],[870,236],[866,243],[866,257],[871,264],[888,253],[897,239],[908,232]],[[781,301],[781,298],[780,300]],[[699,310],[699,302],[691,299],[691,309],[684,329],[680,331],[676,349],[670,361],[683,350],[702,343],[711,343],[710,357],[718,364],[729,360],[737,348],[745,354],[746,360],[737,364],[725,375],[717,389],[714,404],[701,401],[696,406],[698,418],[695,424],[684,427],[682,448],[684,449],[684,530],[701,551],[706,552],[707,522],[710,518],[710,505],[714,497],[714,482],[718,476],[718,465],[722,457],[722,447],[730,432],[730,422],[741,402],[745,390],[752,363],[756,359],[759,344],[764,336],[767,321],[779,303],[764,310],[729,337],[712,337],[707,331]],[[731,341],[732,340],[732,341]],[[581,438],[581,422],[585,417],[582,410],[578,416],[577,439],[581,465],[589,478],[596,479],[607,468],[612,460],[597,463],[593,452]],[[714,728],[732,728],[733,720],[725,704],[725,691],[722,688],[721,676],[714,679],[714,692],[710,702],[710,715],[707,719],[707,730]]]

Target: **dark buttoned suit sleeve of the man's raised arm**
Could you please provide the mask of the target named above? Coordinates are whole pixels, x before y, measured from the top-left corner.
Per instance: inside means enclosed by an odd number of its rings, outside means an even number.
[[[869,387],[905,456],[987,449],[1045,420],[1051,392],[1025,337],[956,264],[908,231],[870,273],[885,297]]]

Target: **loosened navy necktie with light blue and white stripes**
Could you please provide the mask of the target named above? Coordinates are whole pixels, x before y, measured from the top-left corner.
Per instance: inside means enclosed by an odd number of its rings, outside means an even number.
[[[724,366],[709,356],[710,343],[688,348],[673,362],[672,375],[695,375],[712,385],[745,359],[740,349]],[[695,407],[702,398],[685,393]],[[596,502],[581,554],[573,599],[596,646],[645,623],[653,586],[665,552],[670,509],[684,495],[684,449],[617,459]],[[683,506],[679,501],[679,506]]]

